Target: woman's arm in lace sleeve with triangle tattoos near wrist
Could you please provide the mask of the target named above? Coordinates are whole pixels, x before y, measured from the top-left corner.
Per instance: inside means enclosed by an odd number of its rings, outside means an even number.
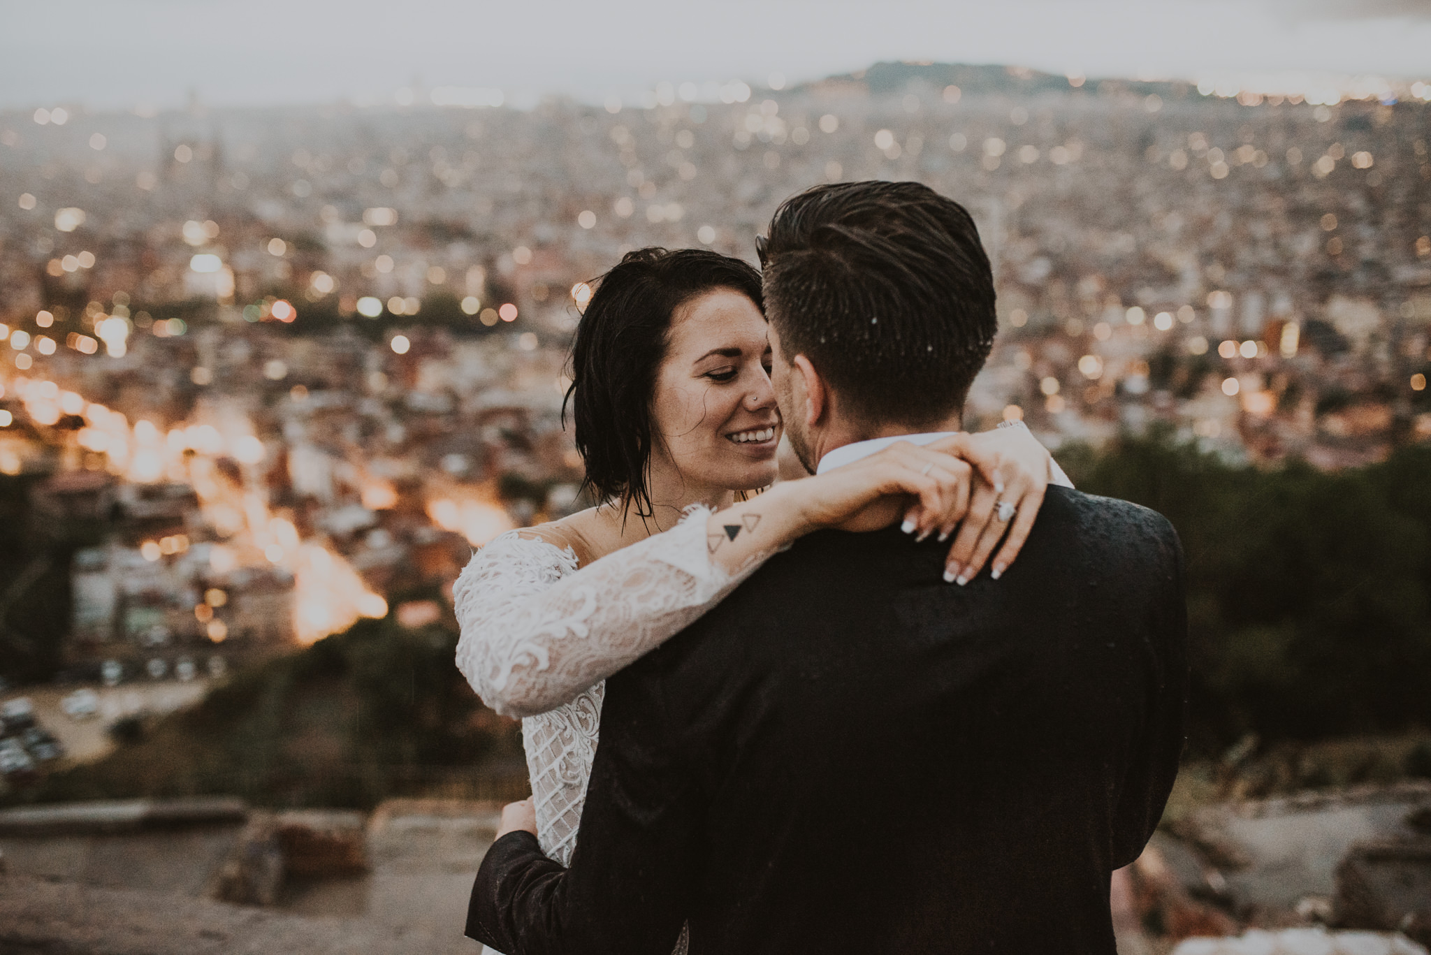
[[[996,475],[1037,487],[1042,498],[1047,452],[1036,441],[1037,455],[1007,440],[997,447],[996,457],[979,444],[967,452],[980,467],[995,464]],[[964,461],[900,442],[716,514],[698,508],[580,570],[577,556],[544,540],[541,528],[504,534],[454,586],[458,667],[498,713],[544,713],[684,630],[811,530],[874,530],[904,514],[910,533],[933,533],[967,510],[969,477]]]

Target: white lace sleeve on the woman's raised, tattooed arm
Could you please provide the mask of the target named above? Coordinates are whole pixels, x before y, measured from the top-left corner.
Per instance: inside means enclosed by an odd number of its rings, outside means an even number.
[[[521,531],[479,550],[452,588],[456,664],[504,716],[572,700],[680,633],[768,554],[728,574],[710,560],[694,510],[661,534],[577,568],[577,556]]]

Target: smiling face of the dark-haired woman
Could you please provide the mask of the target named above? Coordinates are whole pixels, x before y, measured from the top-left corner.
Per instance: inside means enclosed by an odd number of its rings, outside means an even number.
[[[653,454],[693,484],[756,490],[776,478],[780,409],[756,304],[713,289],[675,311],[655,378]]]

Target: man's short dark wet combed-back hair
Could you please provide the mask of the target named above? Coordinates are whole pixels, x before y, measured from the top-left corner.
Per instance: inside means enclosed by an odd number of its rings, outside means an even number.
[[[963,408],[997,329],[969,212],[917,182],[847,182],[787,199],[757,243],[766,315],[851,415],[924,425]]]

